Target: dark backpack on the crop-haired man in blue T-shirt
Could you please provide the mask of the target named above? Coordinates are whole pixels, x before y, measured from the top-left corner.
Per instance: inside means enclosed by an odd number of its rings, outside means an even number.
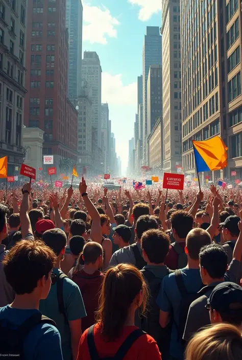
[[[182,345],[185,344],[183,340],[183,334],[184,329],[186,326],[186,319],[188,310],[190,307],[190,304],[198,299],[201,296],[201,293],[188,293],[186,290],[186,286],[184,285],[183,279],[182,279],[182,272],[180,269],[175,270],[175,279],[176,284],[179,290],[179,293],[181,294],[181,302],[179,306],[179,325],[176,324],[177,332],[178,332],[178,339],[181,341]],[[203,286],[203,285],[202,285]]]

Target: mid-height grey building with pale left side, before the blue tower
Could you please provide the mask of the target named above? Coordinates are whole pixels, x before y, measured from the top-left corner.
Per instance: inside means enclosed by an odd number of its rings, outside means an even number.
[[[147,136],[162,117],[162,66],[151,65],[147,79]]]

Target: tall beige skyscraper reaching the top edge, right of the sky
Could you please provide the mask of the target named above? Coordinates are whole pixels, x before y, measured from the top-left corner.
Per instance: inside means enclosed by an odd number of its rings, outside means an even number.
[[[162,0],[163,169],[182,164],[180,0]]]

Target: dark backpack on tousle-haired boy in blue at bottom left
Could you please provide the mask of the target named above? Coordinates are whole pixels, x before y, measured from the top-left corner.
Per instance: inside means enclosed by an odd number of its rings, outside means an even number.
[[[11,323],[7,319],[0,320],[0,349],[2,354],[11,354],[18,360],[25,360],[23,351],[23,342],[31,330],[38,324],[51,324],[56,326],[56,323],[43,316],[41,313],[35,313],[26,321],[24,321],[17,329],[9,326]]]

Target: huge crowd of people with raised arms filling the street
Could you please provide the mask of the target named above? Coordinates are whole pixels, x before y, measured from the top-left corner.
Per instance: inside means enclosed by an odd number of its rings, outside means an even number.
[[[241,217],[214,185],[0,190],[0,355],[242,359]]]

